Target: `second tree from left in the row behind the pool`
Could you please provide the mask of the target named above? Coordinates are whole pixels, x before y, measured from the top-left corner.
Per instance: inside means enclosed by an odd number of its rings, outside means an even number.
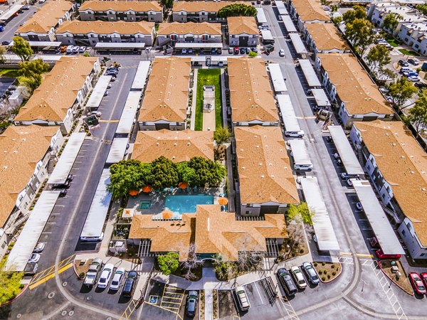
[[[151,162],[150,182],[154,189],[176,186],[179,183],[178,171],[176,165],[164,156]]]

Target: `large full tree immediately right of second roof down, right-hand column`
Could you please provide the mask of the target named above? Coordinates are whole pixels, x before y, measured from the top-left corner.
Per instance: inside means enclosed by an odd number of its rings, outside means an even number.
[[[345,36],[353,44],[354,49],[363,55],[368,46],[375,41],[374,26],[366,19],[356,18],[351,23],[346,23]]]

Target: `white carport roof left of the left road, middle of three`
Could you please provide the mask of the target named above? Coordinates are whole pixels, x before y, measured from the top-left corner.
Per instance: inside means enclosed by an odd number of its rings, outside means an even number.
[[[85,132],[75,132],[71,134],[55,169],[53,169],[53,172],[49,177],[48,183],[65,183],[85,137]]]

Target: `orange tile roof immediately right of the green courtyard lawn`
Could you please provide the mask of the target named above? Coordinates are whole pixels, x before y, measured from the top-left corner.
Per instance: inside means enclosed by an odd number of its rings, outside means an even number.
[[[234,122],[278,121],[278,110],[263,59],[228,58],[228,80]]]

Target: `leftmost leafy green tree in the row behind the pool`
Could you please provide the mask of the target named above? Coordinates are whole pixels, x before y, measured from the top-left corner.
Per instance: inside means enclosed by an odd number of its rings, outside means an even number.
[[[122,160],[110,166],[110,183],[107,191],[114,198],[127,196],[131,190],[139,190],[149,184],[151,165],[137,160]]]

